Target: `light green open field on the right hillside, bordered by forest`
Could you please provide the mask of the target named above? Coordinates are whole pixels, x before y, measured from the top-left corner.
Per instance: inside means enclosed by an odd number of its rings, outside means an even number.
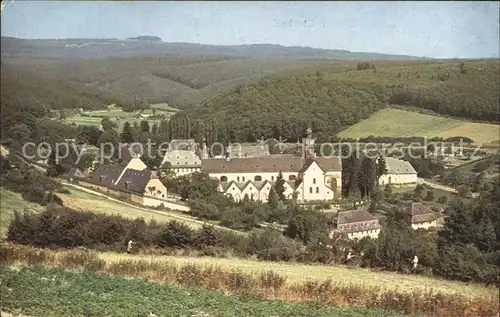
[[[380,110],[338,134],[344,138],[384,137],[452,137],[465,136],[475,142],[499,139],[500,126],[473,123],[393,108]]]

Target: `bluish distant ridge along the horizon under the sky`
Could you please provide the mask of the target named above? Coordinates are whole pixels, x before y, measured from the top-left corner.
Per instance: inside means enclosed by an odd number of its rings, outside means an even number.
[[[95,59],[158,54],[223,55],[245,59],[429,60],[425,57],[351,52],[273,44],[205,45],[169,43],[156,36],[128,39],[20,39],[1,38],[2,57]]]

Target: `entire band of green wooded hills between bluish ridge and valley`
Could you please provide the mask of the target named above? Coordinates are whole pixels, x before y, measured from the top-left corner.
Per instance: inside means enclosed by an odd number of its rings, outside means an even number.
[[[51,109],[116,103],[136,110],[166,96],[186,110],[152,134],[199,141],[205,135],[208,143],[280,136],[295,142],[307,127],[314,128],[318,142],[330,141],[390,103],[498,122],[500,69],[494,61],[243,61],[173,55],[2,62],[2,133],[19,124],[33,131],[34,120]]]

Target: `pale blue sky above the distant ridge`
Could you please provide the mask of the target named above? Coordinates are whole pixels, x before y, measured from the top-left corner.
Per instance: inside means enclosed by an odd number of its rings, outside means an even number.
[[[2,36],[281,44],[435,58],[499,57],[498,2],[9,1]]]

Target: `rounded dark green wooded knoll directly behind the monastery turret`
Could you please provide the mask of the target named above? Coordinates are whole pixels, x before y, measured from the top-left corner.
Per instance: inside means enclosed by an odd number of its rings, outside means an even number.
[[[318,139],[328,140],[383,107],[382,96],[368,87],[294,76],[237,87],[187,113],[190,118],[216,121],[221,142],[280,136],[295,142],[307,127],[314,127]]]

